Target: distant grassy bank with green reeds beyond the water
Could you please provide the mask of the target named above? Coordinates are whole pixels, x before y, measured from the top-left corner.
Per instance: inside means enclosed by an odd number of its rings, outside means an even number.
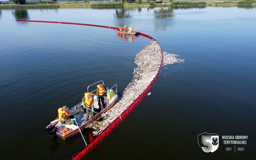
[[[48,2],[48,1],[47,1]],[[136,1],[135,1],[136,2]],[[120,2],[62,2],[54,4],[34,4],[35,2],[30,2],[30,4],[0,4],[0,9],[44,9],[44,8],[121,8],[121,7],[205,7],[205,6],[256,6],[256,0],[177,0],[169,3],[166,0],[165,3],[155,3],[150,1],[150,3],[143,2],[138,3],[120,3]],[[43,1],[43,3],[46,3]]]

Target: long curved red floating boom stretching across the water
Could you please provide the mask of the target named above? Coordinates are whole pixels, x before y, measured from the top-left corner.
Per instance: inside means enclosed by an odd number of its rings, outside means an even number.
[[[55,21],[40,21],[40,20],[17,20],[17,21],[21,21],[21,22],[57,23],[57,24],[74,24],[74,25],[82,25],[82,26],[94,26],[94,27],[110,28],[110,29],[114,29],[114,30],[118,30],[119,29],[117,27],[101,26],[101,25],[94,25],[94,24],[83,24],[83,23],[71,23],[71,22],[55,22]],[[151,36],[149,36],[147,34],[140,33],[140,35],[144,36],[144,37],[147,37],[147,38],[150,38],[152,40],[155,40],[153,37],[151,37]],[[155,40],[155,41],[160,46],[159,42],[157,40]],[[156,81],[156,78],[158,78],[160,70],[162,69],[163,60],[164,60],[164,53],[163,53],[163,50],[162,50],[161,46],[160,46],[160,48],[161,48],[161,52],[162,52],[162,62],[161,62],[160,68],[159,68],[156,76],[154,77],[152,82],[148,85],[146,90],[144,90],[144,92],[142,92],[142,94],[140,94],[140,96],[126,110],[124,110],[124,112],[120,115],[120,117],[116,118],[116,120],[114,120],[112,122],[112,124],[110,126],[108,126],[98,137],[96,137],[87,147],[85,147],[83,150],[81,150],[78,154],[72,156],[71,159],[73,159],[73,160],[84,159],[85,155],[90,150],[92,150],[97,144],[99,144],[122,121],[122,119],[125,118],[132,111],[132,109],[136,106],[136,104],[138,104],[138,102],[146,95],[146,93],[149,91],[151,86]]]

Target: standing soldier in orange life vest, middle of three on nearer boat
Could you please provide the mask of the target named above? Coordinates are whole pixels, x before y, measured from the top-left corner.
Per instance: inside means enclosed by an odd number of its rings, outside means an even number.
[[[92,93],[84,93],[84,97],[82,98],[82,104],[84,107],[84,110],[86,110],[86,121],[89,120],[89,114],[90,118],[93,117],[93,112],[94,112],[94,94]]]

